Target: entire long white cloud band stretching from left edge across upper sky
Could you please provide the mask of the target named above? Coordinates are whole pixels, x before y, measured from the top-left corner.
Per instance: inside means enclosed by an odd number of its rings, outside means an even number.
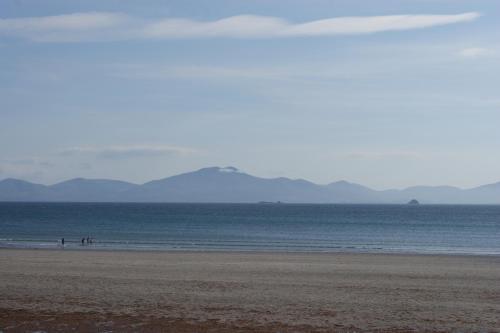
[[[0,19],[0,34],[36,41],[182,38],[284,38],[370,34],[470,22],[477,12],[451,15],[335,17],[293,23],[279,17],[238,15],[214,21],[146,20],[120,13],[75,13]]]

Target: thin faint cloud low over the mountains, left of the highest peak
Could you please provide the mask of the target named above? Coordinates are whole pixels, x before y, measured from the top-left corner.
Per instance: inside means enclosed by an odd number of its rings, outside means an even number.
[[[99,158],[118,159],[165,155],[188,155],[196,151],[191,148],[167,145],[131,145],[105,147],[72,147],[60,152],[62,156],[92,154]]]

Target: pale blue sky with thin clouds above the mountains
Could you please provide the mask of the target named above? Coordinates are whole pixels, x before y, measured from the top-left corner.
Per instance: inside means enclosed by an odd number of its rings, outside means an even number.
[[[500,181],[496,0],[1,0],[0,179]]]

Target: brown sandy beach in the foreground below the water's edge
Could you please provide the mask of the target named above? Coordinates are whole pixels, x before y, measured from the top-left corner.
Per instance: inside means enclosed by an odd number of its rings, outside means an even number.
[[[500,258],[0,250],[0,330],[498,332]]]

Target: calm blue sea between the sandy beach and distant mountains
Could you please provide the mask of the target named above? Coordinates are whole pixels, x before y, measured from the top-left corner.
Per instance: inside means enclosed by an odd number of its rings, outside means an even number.
[[[88,250],[500,254],[500,206],[0,203],[0,247],[62,237]]]

